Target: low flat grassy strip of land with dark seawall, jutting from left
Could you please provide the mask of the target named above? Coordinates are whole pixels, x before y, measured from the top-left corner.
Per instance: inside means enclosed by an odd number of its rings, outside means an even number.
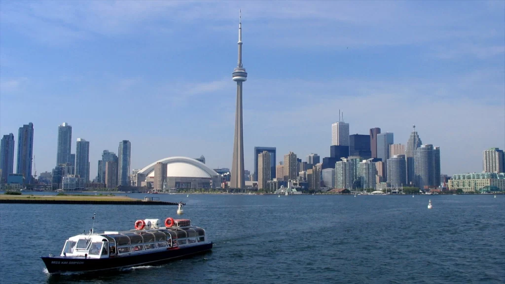
[[[0,195],[0,204],[95,204],[95,205],[177,205],[175,202],[143,201],[125,196],[94,196],[94,195]]]

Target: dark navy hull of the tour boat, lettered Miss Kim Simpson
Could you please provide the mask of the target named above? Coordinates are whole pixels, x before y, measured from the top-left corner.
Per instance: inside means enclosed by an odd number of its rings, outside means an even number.
[[[153,253],[130,254],[128,256],[114,258],[47,256],[41,257],[41,259],[44,261],[45,267],[47,267],[49,273],[91,272],[140,265],[153,265],[175,258],[209,251],[212,249],[212,246],[213,243],[209,242],[201,245],[170,248]]]

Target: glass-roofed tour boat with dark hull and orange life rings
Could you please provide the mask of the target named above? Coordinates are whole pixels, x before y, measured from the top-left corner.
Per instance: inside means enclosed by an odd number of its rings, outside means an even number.
[[[93,216],[94,221],[94,216]],[[160,264],[172,259],[209,251],[213,243],[205,230],[188,219],[137,220],[135,229],[72,236],[60,256],[41,257],[49,273],[90,272],[140,265]]]

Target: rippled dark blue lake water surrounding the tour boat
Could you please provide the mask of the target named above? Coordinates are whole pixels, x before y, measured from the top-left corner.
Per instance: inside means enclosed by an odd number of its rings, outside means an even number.
[[[143,198],[142,194],[128,194]],[[50,276],[69,236],[127,230],[176,206],[0,205],[0,282],[503,283],[505,196],[154,195],[187,203],[212,252],[160,266]],[[428,199],[433,209],[427,209]]]

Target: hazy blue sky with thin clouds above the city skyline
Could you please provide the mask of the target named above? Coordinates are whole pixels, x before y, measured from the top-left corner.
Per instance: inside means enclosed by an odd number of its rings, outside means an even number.
[[[339,110],[394,143],[415,124],[449,175],[505,148],[504,1],[1,1],[0,134],[33,123],[38,173],[63,122],[72,153],[90,141],[91,178],[124,139],[131,169],[231,168],[239,9],[246,170],[255,146],[328,157]]]

